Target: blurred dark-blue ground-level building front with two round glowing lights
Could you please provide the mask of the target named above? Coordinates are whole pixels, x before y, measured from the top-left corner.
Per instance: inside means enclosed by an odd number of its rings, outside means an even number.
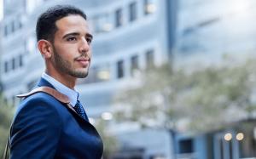
[[[177,133],[174,143],[177,159],[254,159],[256,122],[244,120],[201,134]]]

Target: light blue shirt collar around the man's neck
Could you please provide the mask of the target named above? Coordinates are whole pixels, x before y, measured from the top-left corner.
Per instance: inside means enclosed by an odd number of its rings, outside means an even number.
[[[79,99],[79,93],[77,91],[71,88],[67,88],[67,86],[65,86],[61,82],[58,82],[57,80],[55,80],[55,78],[50,77],[45,72],[42,74],[42,77],[50,84],[52,84],[55,87],[55,89],[59,91],[61,94],[67,95],[71,105],[76,105],[77,100]]]

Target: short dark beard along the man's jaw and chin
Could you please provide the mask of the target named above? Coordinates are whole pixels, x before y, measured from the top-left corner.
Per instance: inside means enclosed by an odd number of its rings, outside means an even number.
[[[73,68],[73,65],[68,60],[64,60],[60,54],[56,51],[55,47],[53,47],[54,51],[54,59],[52,60],[53,64],[55,65],[55,69],[58,71],[61,71],[63,73],[66,73],[72,77],[77,78],[85,78],[88,76],[88,71],[76,71]]]

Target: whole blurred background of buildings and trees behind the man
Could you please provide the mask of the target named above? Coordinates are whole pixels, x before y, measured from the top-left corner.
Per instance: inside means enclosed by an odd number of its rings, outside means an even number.
[[[38,15],[56,4],[94,35],[76,89],[104,159],[256,158],[255,0],[0,0],[1,156],[15,95],[44,72]]]

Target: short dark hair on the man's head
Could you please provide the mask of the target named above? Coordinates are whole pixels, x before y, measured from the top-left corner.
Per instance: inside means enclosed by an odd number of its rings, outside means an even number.
[[[86,20],[86,14],[80,9],[77,9],[70,5],[56,5],[47,9],[43,14],[38,17],[37,22],[37,40],[49,40],[54,41],[55,32],[57,31],[57,26],[55,22],[71,14],[78,14]]]

